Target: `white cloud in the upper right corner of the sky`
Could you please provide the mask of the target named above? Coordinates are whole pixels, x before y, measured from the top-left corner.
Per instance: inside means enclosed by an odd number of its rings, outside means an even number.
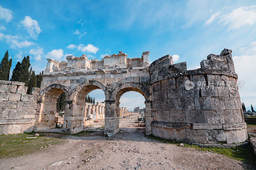
[[[218,23],[228,25],[228,30],[237,29],[256,22],[256,5],[242,6],[222,16]]]

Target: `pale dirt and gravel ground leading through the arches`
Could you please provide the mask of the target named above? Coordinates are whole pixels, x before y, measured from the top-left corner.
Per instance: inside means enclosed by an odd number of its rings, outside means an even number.
[[[256,169],[226,156],[164,144],[136,127],[137,116],[120,119],[120,132],[67,136],[66,142],[28,155],[0,160],[0,169]],[[95,126],[104,125],[104,122]],[[60,165],[50,166],[61,162]]]

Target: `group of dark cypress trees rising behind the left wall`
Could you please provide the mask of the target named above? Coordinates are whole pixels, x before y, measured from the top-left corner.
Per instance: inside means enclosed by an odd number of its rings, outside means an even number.
[[[33,87],[40,88],[44,71],[42,71],[42,73],[40,72],[40,74],[35,74],[35,71],[33,71],[32,67],[30,67],[28,55],[27,57],[24,56],[21,63],[17,62],[15,68],[12,71],[12,76],[9,79],[11,67],[12,59],[9,60],[9,53],[7,50],[4,54],[4,58],[0,63],[0,80],[24,82],[25,86],[28,87],[27,94],[32,92]]]

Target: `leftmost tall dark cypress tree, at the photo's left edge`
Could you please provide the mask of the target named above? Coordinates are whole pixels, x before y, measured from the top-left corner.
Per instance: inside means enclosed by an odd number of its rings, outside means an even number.
[[[9,60],[8,57],[9,57],[9,54],[7,50],[4,54],[4,58],[0,63],[0,80],[5,80],[5,81],[9,80],[10,70],[12,67],[12,59]]]

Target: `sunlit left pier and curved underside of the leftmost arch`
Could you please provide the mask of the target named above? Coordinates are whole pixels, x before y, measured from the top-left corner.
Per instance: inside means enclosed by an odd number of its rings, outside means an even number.
[[[37,102],[34,131],[54,128],[56,103],[62,93],[65,93],[67,98],[70,97],[68,88],[61,84],[51,84],[41,91]]]

